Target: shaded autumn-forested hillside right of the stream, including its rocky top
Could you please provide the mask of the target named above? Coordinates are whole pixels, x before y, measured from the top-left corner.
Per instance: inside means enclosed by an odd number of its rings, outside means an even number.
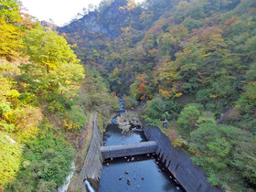
[[[59,33],[212,185],[256,189],[255,0],[105,0]]]

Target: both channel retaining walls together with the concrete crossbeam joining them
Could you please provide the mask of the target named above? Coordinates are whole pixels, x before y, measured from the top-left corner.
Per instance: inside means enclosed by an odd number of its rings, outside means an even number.
[[[103,146],[102,135],[97,126],[97,117],[94,115],[91,146],[77,189],[87,191],[85,180],[89,180],[96,190],[99,189],[104,159],[155,153],[186,191],[222,191],[218,187],[210,186],[204,170],[193,165],[190,157],[179,147],[174,147],[160,129],[145,126],[142,130],[148,142]]]

